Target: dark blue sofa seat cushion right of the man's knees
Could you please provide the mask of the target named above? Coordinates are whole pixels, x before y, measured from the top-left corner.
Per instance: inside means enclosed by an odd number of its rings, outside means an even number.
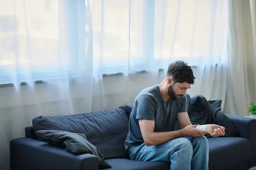
[[[233,164],[247,162],[250,157],[250,144],[245,138],[209,138],[209,168],[221,169]]]

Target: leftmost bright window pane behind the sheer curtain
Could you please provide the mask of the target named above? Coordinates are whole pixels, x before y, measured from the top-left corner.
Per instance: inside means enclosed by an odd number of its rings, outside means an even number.
[[[59,61],[58,1],[25,2],[1,2],[0,65]]]

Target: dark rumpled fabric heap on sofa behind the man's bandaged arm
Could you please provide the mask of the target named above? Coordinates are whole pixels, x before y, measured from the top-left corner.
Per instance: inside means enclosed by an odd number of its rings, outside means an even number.
[[[196,95],[188,100],[188,114],[192,125],[216,124],[226,128],[225,136],[239,136],[239,130],[230,121],[230,119],[221,111],[221,100],[209,100],[202,96]],[[210,137],[210,135],[206,135]]]

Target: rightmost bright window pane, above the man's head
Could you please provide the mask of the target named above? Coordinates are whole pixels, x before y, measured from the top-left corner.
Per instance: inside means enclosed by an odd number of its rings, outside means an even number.
[[[225,0],[162,2],[155,3],[154,59],[193,62],[222,55],[227,31]]]

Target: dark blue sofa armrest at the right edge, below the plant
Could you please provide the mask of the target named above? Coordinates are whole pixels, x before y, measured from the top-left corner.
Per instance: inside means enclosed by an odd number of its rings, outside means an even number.
[[[240,137],[250,142],[249,167],[256,166],[256,119],[226,114],[240,132]]]

